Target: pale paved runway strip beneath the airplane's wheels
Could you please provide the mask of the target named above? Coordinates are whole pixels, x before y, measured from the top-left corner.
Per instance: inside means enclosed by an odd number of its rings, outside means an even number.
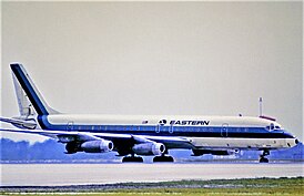
[[[3,164],[1,186],[304,176],[304,164]]]

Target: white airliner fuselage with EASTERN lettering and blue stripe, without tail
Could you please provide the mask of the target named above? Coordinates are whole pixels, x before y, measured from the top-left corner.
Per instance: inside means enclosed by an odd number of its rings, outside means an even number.
[[[196,148],[282,148],[295,138],[276,122],[245,116],[48,115],[49,130],[180,136]],[[272,128],[273,127],[273,128]],[[277,135],[276,135],[277,134]]]

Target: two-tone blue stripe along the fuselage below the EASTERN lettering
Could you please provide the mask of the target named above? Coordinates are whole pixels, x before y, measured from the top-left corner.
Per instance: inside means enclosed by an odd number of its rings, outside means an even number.
[[[235,137],[235,138],[293,138],[282,130],[266,131],[264,127],[225,127],[221,126],[158,126],[158,125],[54,125],[47,115],[40,116],[47,130],[77,131],[90,133],[134,134],[150,136],[188,136],[188,137]],[[160,130],[158,130],[160,128]],[[246,130],[245,130],[246,128]],[[172,132],[173,130],[173,132]]]

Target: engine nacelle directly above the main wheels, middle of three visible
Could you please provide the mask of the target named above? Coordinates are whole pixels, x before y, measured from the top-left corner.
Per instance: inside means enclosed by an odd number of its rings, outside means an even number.
[[[165,146],[161,143],[149,142],[135,144],[132,149],[138,155],[161,155],[164,153]]]

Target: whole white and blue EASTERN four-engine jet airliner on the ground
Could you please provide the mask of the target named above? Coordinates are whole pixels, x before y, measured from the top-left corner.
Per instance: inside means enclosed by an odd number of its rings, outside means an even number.
[[[65,145],[67,154],[114,151],[122,162],[174,162],[169,149],[191,149],[193,156],[231,155],[256,149],[260,163],[270,151],[290,148],[298,140],[266,116],[83,115],[50,107],[21,63],[10,64],[20,116],[0,117],[18,127],[3,132],[48,136]]]

